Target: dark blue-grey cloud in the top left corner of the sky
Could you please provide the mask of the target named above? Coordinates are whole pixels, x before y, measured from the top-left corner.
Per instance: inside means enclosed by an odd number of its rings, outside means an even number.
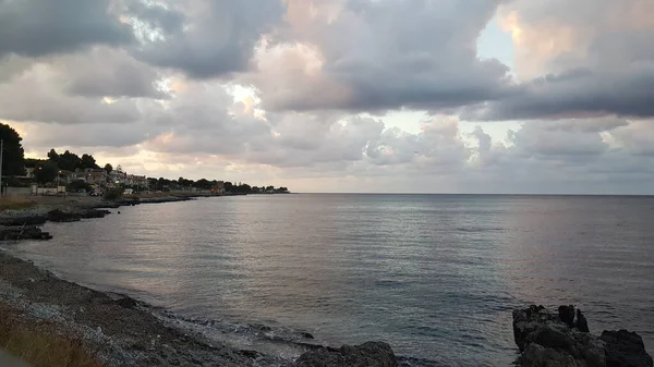
[[[0,58],[130,44],[134,39],[131,28],[109,13],[109,4],[108,0],[2,0]]]

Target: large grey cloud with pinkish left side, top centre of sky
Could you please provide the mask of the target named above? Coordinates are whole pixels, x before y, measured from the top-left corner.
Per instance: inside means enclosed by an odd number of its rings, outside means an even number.
[[[252,83],[275,110],[447,109],[496,99],[508,93],[508,69],[476,54],[496,5],[291,0],[289,25],[257,51],[262,73]]]

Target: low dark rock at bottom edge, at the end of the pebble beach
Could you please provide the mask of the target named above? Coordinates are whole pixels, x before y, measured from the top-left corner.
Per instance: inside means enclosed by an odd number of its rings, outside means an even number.
[[[320,347],[300,356],[295,367],[397,367],[398,362],[390,345],[366,342],[343,345],[338,350]]]

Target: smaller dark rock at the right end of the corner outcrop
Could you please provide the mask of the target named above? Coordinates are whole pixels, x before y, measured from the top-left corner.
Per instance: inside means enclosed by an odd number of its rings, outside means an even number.
[[[635,332],[605,330],[600,339],[605,343],[606,367],[652,367],[652,357]]]

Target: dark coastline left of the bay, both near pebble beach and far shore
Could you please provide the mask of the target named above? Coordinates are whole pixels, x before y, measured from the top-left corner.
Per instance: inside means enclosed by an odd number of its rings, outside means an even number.
[[[0,244],[1,240],[49,240],[51,236],[44,236],[49,235],[47,232],[40,232],[40,224],[47,221],[72,222],[102,218],[110,213],[105,208],[215,196],[225,195],[171,195],[118,200],[69,198],[28,209],[5,210],[0,212]],[[8,231],[19,231],[20,234],[8,237]],[[290,338],[280,337],[263,325],[246,325],[245,328],[254,330],[257,337],[263,337],[265,343],[270,345],[287,344],[284,348],[292,350],[291,355],[281,357],[266,354],[261,347],[257,351],[240,347],[228,343],[229,335],[218,340],[209,339],[194,320],[169,317],[170,313],[124,294],[102,292],[64,280],[32,260],[22,259],[2,248],[0,316],[0,321],[12,323],[19,320],[37,334],[72,340],[101,366],[310,367],[322,358],[313,353],[344,353],[342,356],[347,358],[390,360],[392,363],[388,366],[397,366],[392,350],[386,343],[368,342],[348,346],[346,352],[341,352],[317,343],[310,333],[294,331]],[[230,327],[239,329],[243,326]],[[352,351],[355,355],[348,356]]]

